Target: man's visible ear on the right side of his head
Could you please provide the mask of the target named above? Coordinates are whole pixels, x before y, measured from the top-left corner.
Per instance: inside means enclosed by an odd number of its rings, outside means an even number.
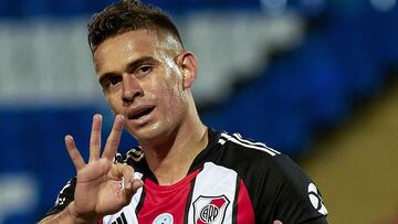
[[[193,84],[195,78],[198,75],[198,61],[192,52],[184,52],[177,57],[177,65],[182,73],[184,88],[190,88]]]

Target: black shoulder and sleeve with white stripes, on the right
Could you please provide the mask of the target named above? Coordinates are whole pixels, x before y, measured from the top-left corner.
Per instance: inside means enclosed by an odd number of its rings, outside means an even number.
[[[219,136],[222,156],[217,162],[238,173],[255,213],[266,213],[284,223],[305,222],[327,214],[314,182],[289,156],[239,134],[223,131]]]

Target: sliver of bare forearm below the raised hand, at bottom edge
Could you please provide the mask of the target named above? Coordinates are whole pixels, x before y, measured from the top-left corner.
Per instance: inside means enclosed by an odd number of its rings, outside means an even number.
[[[96,224],[97,218],[81,218],[73,211],[74,202],[71,202],[62,212],[44,217],[38,224]]]

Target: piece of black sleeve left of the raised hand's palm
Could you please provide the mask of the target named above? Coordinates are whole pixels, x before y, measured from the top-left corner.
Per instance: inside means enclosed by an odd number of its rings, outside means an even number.
[[[64,210],[74,200],[74,190],[76,186],[76,178],[71,179],[60,191],[55,204],[51,207],[45,216],[56,214]]]

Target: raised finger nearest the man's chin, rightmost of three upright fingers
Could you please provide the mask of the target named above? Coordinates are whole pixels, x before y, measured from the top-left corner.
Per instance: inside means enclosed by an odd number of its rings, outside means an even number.
[[[114,159],[115,153],[117,151],[117,147],[121,142],[123,126],[124,126],[124,116],[116,115],[114,125],[112,127],[112,131],[106,140],[106,145],[103,153],[103,158],[109,161]]]

